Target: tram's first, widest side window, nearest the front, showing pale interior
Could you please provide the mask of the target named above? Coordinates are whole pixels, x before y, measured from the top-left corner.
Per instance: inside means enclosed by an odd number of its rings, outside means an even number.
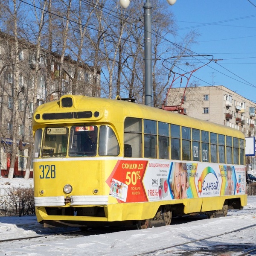
[[[125,157],[141,157],[142,119],[125,119]]]

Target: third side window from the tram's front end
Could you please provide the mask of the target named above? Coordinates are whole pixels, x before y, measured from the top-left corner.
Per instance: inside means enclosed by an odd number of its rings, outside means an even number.
[[[158,122],[159,158],[169,159],[169,124]]]

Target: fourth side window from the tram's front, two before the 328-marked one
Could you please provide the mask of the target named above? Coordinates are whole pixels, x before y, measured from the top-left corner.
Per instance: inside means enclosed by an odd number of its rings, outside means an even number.
[[[180,126],[171,125],[171,159],[180,160]]]

